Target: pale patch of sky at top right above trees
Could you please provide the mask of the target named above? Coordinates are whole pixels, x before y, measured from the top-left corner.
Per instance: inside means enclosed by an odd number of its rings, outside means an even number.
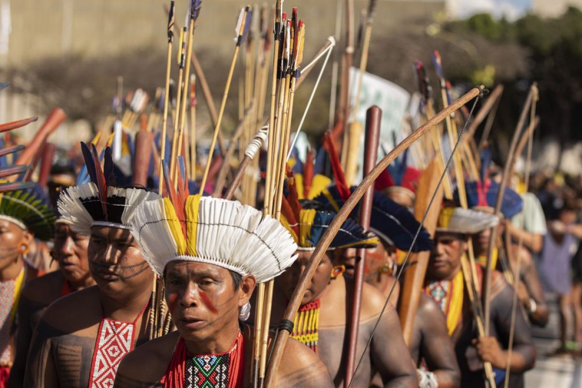
[[[489,12],[496,17],[515,20],[531,8],[532,0],[448,0],[449,12],[456,17]]]

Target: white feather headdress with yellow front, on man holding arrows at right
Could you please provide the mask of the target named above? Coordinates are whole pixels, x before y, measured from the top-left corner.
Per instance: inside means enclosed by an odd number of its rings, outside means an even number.
[[[472,209],[445,207],[441,209],[437,232],[477,234],[499,223],[499,217]]]

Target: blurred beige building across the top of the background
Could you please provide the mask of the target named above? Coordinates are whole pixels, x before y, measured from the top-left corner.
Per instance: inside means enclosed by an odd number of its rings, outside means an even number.
[[[180,25],[187,3],[176,1]],[[268,3],[274,5],[274,0]],[[298,6],[306,22],[307,57],[333,35],[337,4],[336,0],[285,2],[288,11]],[[20,66],[47,56],[107,56],[136,47],[165,52],[165,5],[169,0],[0,0],[0,66]],[[196,46],[229,55],[241,5],[240,0],[204,1],[196,23]],[[356,23],[365,6],[367,0],[355,1]],[[444,8],[445,0],[379,0],[375,34],[432,19]]]

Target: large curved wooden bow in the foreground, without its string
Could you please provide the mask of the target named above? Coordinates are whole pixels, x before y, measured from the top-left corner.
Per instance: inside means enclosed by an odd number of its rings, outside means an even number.
[[[418,140],[418,138],[434,128],[438,123],[442,122],[446,116],[450,115],[450,112],[456,111],[471,99],[480,95],[484,88],[484,86],[472,88],[461,98],[453,102],[453,104],[451,104],[448,108],[443,109],[441,112],[435,115],[434,118],[423,124],[423,126],[418,127],[417,130],[411,133],[408,137],[404,138],[404,140],[401,141],[395,148],[393,148],[392,151],[388,152],[388,154],[386,154],[386,156],[384,156],[384,158],[382,158],[382,160],[374,166],[371,172],[364,177],[356,190],[354,190],[352,195],[350,195],[350,198],[347,199],[343,207],[339,210],[331,225],[329,225],[328,229],[324,233],[324,236],[322,236],[320,243],[317,245],[317,247],[315,247],[315,251],[311,255],[306,269],[301,274],[299,282],[293,290],[293,295],[289,304],[287,305],[285,315],[283,316],[285,320],[293,322],[293,318],[295,314],[297,314],[297,309],[299,309],[301,304],[301,299],[307,290],[308,284],[311,282],[311,278],[313,277],[317,266],[321,262],[321,258],[325,254],[325,251],[327,251],[329,244],[331,244],[331,241],[335,237],[335,234],[338,232],[339,227],[342,226],[343,222],[350,215],[353,208],[360,201],[368,187],[374,184],[374,181],[377,179],[380,173],[383,172],[386,167],[388,167],[388,165],[394,161],[394,159],[402,154],[404,150],[410,147],[410,144],[414,143],[414,141]],[[269,369],[265,380],[265,387],[273,387],[275,385],[275,374],[279,367],[279,362],[281,362],[281,357],[288,337],[289,332],[286,330],[279,332],[279,336],[273,345],[274,348],[272,350],[271,364],[269,364]]]

